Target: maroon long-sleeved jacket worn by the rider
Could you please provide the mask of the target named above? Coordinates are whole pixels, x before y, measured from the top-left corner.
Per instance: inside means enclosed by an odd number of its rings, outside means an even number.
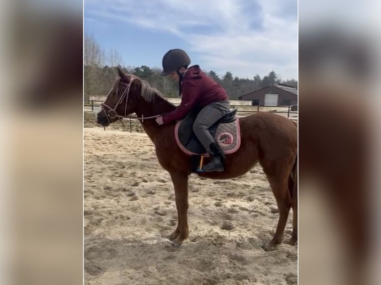
[[[181,91],[181,104],[173,112],[163,116],[164,124],[184,119],[194,107],[202,108],[210,103],[229,99],[225,89],[201,71],[198,65],[190,67],[185,73]]]

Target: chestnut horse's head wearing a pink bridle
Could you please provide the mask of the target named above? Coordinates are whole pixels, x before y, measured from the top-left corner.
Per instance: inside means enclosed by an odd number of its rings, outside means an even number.
[[[96,113],[96,122],[102,126],[108,126],[119,118],[135,112],[139,79],[134,75],[124,74],[119,68],[117,70],[119,78],[114,81]]]

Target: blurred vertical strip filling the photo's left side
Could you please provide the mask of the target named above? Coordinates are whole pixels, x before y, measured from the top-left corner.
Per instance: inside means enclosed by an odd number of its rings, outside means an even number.
[[[0,284],[83,284],[83,2],[2,5]]]

